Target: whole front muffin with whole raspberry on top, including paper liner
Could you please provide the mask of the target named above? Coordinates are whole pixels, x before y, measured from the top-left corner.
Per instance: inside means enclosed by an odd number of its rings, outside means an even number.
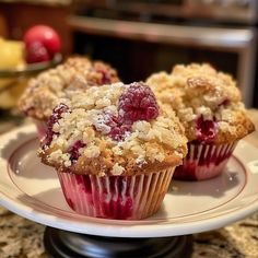
[[[187,153],[178,118],[143,83],[69,92],[48,125],[38,155],[56,168],[70,208],[87,216],[151,216]]]

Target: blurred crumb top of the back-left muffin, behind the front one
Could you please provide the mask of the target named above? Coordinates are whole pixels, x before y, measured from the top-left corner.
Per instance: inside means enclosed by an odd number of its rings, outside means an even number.
[[[47,120],[67,89],[85,89],[118,81],[117,72],[110,66],[85,57],[72,57],[31,79],[20,98],[19,108],[26,116]]]

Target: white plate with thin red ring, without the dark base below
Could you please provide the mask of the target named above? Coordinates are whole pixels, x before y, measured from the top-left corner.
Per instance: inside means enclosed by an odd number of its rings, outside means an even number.
[[[241,141],[224,173],[197,183],[172,183],[161,210],[142,221],[82,216],[66,203],[55,171],[36,155],[34,126],[0,138],[0,203],[38,223],[67,231],[157,237],[218,228],[258,210],[257,149]]]

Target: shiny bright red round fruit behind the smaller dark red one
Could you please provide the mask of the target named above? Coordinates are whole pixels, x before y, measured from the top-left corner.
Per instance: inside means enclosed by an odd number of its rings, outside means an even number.
[[[51,58],[61,48],[59,35],[54,28],[46,25],[36,25],[28,28],[24,34],[23,42],[25,43],[26,49],[35,42],[42,43]]]

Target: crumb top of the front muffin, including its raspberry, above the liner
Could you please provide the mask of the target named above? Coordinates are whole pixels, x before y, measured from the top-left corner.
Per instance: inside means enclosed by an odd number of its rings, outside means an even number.
[[[48,121],[38,155],[74,174],[136,175],[181,163],[184,129],[143,83],[70,91]]]

